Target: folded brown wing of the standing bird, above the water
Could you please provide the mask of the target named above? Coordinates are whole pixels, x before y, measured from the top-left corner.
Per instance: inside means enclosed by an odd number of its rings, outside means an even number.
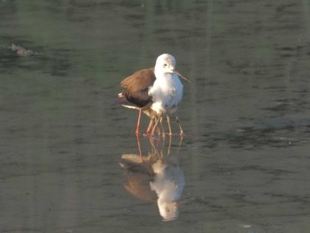
[[[120,82],[120,85],[124,88],[122,94],[127,98],[128,102],[138,107],[150,105],[151,97],[148,92],[149,87],[153,85],[155,80],[154,68],[137,71]]]

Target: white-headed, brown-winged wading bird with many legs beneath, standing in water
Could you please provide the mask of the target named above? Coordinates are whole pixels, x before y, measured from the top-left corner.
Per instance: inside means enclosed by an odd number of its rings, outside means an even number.
[[[143,69],[131,74],[120,85],[123,91],[119,94],[122,101],[126,101],[123,106],[139,111],[136,124],[136,134],[140,133],[140,121],[142,113],[150,117],[150,124],[146,130],[147,135],[153,136],[163,127],[163,115],[167,116],[169,135],[172,135],[169,115],[174,114],[180,128],[180,135],[183,135],[182,126],[175,111],[177,105],[182,100],[183,85],[179,77],[190,82],[175,70],[175,58],[170,54],[162,54],[157,60],[154,68]]]

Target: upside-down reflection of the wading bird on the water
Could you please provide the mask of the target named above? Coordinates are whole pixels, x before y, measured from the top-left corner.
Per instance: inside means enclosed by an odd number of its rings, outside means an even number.
[[[178,201],[185,184],[177,152],[170,153],[171,137],[168,145],[165,141],[157,141],[154,138],[143,138],[143,140],[150,140],[151,150],[147,155],[143,155],[140,138],[137,137],[140,154],[121,156],[120,167],[125,169],[128,179],[124,187],[136,198],[157,202],[159,214],[164,221],[174,220],[179,214]]]

